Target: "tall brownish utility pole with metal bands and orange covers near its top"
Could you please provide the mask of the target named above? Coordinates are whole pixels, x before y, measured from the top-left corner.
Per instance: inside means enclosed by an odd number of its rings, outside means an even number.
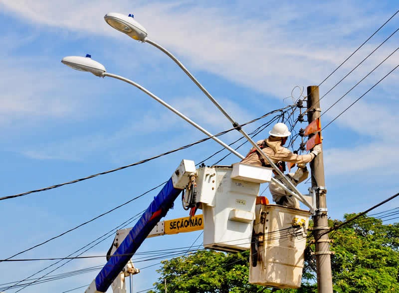
[[[309,123],[320,117],[319,87],[309,86],[308,91],[308,121]],[[321,135],[321,134],[320,134]],[[325,233],[328,227],[327,218],[327,189],[324,181],[323,152],[310,162],[312,174],[312,189],[316,193],[316,215],[313,216],[313,232],[316,245],[317,292],[333,293],[331,273],[330,239]],[[324,234],[325,233],[325,234]]]

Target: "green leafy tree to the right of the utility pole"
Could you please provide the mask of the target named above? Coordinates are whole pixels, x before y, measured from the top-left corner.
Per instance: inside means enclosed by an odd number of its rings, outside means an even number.
[[[356,214],[346,214],[350,220]],[[362,216],[333,232],[337,293],[399,292],[399,224]]]

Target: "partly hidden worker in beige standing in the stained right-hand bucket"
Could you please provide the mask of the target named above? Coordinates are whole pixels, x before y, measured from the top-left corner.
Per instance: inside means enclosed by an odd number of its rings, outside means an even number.
[[[282,163],[284,164],[284,162]],[[281,164],[277,163],[277,166],[280,168]],[[280,171],[284,173],[285,168],[280,168]],[[281,176],[279,176],[277,172],[274,172],[274,170],[273,173],[274,173],[274,178],[284,184],[284,182],[281,179]],[[299,183],[308,178],[309,171],[306,168],[305,164],[298,164],[298,169],[296,170],[295,173],[288,173],[285,176],[292,182],[294,186],[297,186]],[[299,208],[299,200],[296,199],[294,196],[290,195],[289,193],[287,193],[284,189],[282,189],[279,185],[277,185],[273,181],[269,183],[269,191],[270,194],[273,196],[273,201],[275,203],[288,207]]]

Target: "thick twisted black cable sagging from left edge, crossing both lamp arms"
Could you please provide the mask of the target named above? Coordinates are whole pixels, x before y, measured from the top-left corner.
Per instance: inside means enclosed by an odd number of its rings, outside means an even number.
[[[268,115],[271,115],[271,114],[273,114],[275,112],[278,112],[280,110],[286,109],[288,107],[290,107],[290,106],[286,106],[286,107],[281,108],[281,109],[270,111],[269,113],[266,113],[266,114],[264,114],[264,115],[262,115],[262,116],[260,116],[258,118],[255,118],[255,119],[253,119],[251,121],[248,121],[248,122],[242,124],[241,126],[245,126],[247,124],[251,124],[251,123],[253,123],[253,122],[257,121],[257,120],[263,119],[263,118],[267,117]],[[116,171],[123,170],[123,169],[129,168],[129,167],[133,167],[133,166],[137,166],[137,165],[140,165],[140,164],[143,164],[143,163],[147,163],[147,162],[149,162],[151,160],[154,160],[154,159],[157,159],[159,157],[162,157],[162,156],[165,156],[165,155],[169,155],[171,153],[174,153],[174,152],[189,148],[189,147],[194,146],[196,144],[199,144],[201,142],[207,141],[207,140],[211,139],[212,137],[217,137],[217,136],[223,135],[223,134],[225,134],[227,132],[230,132],[232,130],[235,130],[235,129],[236,129],[236,127],[230,128],[228,130],[225,130],[225,131],[219,132],[219,133],[217,133],[215,135],[212,135],[211,137],[205,137],[205,138],[200,139],[200,140],[198,140],[198,141],[196,141],[194,143],[179,147],[177,149],[162,153],[160,155],[157,155],[157,156],[145,159],[145,160],[141,160],[139,162],[136,162],[136,163],[133,163],[133,164],[130,164],[130,165],[122,166],[122,167],[119,167],[119,168],[116,168],[116,169],[112,169],[112,170],[108,170],[108,171],[105,171],[105,172],[93,174],[93,175],[90,175],[90,176],[87,176],[87,177],[84,177],[84,178],[75,179],[75,180],[72,180],[72,181],[69,181],[69,182],[65,182],[65,183],[49,186],[49,187],[42,188],[42,189],[32,190],[32,191],[28,191],[28,192],[24,192],[24,193],[20,193],[20,194],[16,194],[16,195],[2,196],[2,197],[0,197],[0,200],[9,199],[9,198],[15,198],[15,197],[19,197],[19,196],[29,195],[29,194],[32,194],[32,193],[38,193],[38,192],[43,192],[43,191],[59,188],[59,187],[64,186],[64,185],[78,183],[78,182],[81,182],[81,181],[84,181],[84,180],[87,180],[87,179],[91,179],[91,178],[94,178],[94,177],[97,177],[97,176],[100,176],[100,175],[105,175],[105,174],[108,174],[108,173],[116,172]]]

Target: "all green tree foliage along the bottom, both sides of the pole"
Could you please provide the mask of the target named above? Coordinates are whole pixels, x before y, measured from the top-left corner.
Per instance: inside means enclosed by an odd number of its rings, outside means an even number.
[[[356,214],[346,214],[349,220]],[[340,223],[329,221],[330,226]],[[310,227],[312,223],[310,223]],[[300,289],[273,289],[248,283],[249,251],[223,253],[200,250],[163,261],[155,291],[174,293],[310,293],[317,292],[314,244],[309,234]],[[362,216],[330,233],[334,292],[399,292],[399,224]]]

